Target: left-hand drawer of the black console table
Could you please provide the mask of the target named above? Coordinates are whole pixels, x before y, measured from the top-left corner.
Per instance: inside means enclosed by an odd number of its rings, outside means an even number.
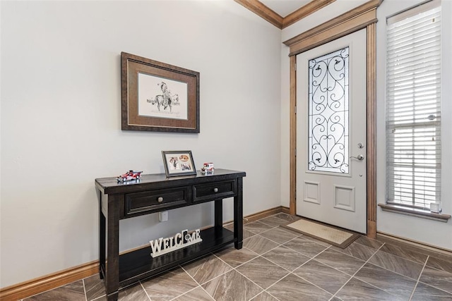
[[[189,203],[189,187],[129,193],[125,195],[124,215],[149,214],[165,209],[184,207]]]

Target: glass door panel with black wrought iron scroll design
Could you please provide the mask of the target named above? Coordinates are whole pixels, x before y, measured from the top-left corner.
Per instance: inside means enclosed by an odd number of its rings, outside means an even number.
[[[309,60],[308,169],[348,173],[349,47]]]

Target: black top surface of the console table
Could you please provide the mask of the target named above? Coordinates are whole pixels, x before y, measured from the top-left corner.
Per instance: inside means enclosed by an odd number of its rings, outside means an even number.
[[[106,194],[131,192],[141,190],[145,187],[192,185],[196,183],[206,183],[217,180],[228,180],[232,178],[242,178],[246,176],[244,171],[232,171],[228,169],[215,168],[213,173],[201,173],[196,175],[167,177],[165,173],[142,174],[139,180],[127,182],[118,181],[116,177],[95,179],[96,187]]]

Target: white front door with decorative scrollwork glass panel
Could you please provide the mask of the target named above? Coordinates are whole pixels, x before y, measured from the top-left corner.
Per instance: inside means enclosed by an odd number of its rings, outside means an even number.
[[[366,233],[366,29],[297,55],[297,214]]]

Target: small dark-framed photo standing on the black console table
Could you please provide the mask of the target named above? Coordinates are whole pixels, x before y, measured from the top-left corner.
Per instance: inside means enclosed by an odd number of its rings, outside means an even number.
[[[191,151],[162,151],[167,177],[196,175]]]

